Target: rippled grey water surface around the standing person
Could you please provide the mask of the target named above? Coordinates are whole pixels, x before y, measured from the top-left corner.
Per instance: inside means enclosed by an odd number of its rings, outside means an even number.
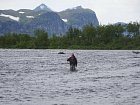
[[[140,105],[140,54],[0,49],[0,105]]]

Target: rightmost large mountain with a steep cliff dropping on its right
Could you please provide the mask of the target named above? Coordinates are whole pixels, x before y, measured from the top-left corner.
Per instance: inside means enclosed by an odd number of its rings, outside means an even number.
[[[68,25],[76,28],[82,28],[84,25],[93,24],[98,26],[99,22],[94,11],[84,9],[81,6],[67,9],[58,13]]]

